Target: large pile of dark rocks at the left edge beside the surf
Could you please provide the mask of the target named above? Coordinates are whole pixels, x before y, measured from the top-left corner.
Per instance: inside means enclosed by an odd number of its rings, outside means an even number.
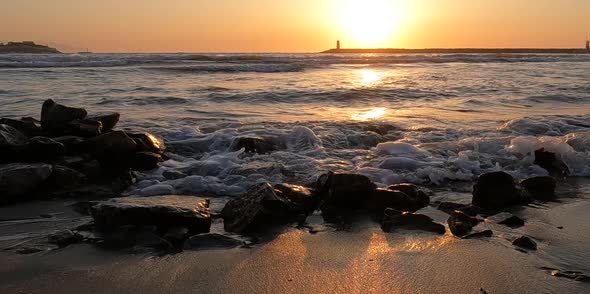
[[[88,114],[49,99],[41,120],[0,119],[0,204],[56,196],[115,197],[132,170],[163,161],[151,134],[115,130],[118,113]]]

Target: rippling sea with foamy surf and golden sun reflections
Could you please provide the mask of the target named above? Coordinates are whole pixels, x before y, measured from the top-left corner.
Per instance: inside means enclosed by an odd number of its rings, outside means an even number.
[[[590,54],[0,55],[0,117],[39,118],[46,99],[165,141],[170,159],[132,195],[232,197],[326,171],[379,186],[525,179],[548,174],[540,148],[590,176]],[[241,137],[276,148],[248,154]]]

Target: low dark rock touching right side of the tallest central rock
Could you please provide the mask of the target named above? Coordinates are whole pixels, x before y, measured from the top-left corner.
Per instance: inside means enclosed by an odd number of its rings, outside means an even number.
[[[386,208],[393,208],[399,211],[415,212],[428,205],[424,199],[416,199],[408,196],[401,191],[392,191],[389,189],[376,189],[369,195],[366,207],[369,210],[383,213]]]

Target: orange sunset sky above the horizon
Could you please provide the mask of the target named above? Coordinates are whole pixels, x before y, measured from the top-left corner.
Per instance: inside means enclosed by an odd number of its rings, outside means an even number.
[[[590,0],[0,0],[0,42],[63,51],[577,48]]]

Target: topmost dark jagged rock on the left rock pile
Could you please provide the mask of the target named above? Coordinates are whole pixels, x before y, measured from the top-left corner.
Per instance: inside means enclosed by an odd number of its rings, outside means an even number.
[[[70,122],[84,119],[86,114],[87,112],[83,108],[64,106],[48,99],[43,102],[41,108],[41,127],[44,132],[49,134],[63,134]]]

